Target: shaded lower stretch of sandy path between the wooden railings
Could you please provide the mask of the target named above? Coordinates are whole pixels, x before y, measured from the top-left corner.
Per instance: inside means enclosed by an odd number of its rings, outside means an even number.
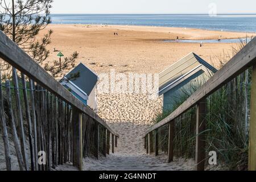
[[[192,170],[192,160],[175,159],[167,163],[167,155],[155,157],[147,155],[144,150],[142,133],[147,129],[147,123],[138,122],[113,122],[110,126],[119,132],[118,147],[114,154],[100,159],[86,158],[84,170],[86,171],[179,171]],[[110,150],[111,152],[111,150]]]

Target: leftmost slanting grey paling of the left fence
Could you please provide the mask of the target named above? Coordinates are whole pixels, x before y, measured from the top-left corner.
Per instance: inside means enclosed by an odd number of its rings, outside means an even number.
[[[3,94],[2,94],[2,77],[1,77],[1,69],[0,69],[0,120],[2,127],[2,137],[3,137],[3,145],[5,146],[5,163],[7,171],[11,171],[11,156],[9,149],[9,140],[8,140],[8,131],[6,126],[5,119],[5,109],[3,107]]]

